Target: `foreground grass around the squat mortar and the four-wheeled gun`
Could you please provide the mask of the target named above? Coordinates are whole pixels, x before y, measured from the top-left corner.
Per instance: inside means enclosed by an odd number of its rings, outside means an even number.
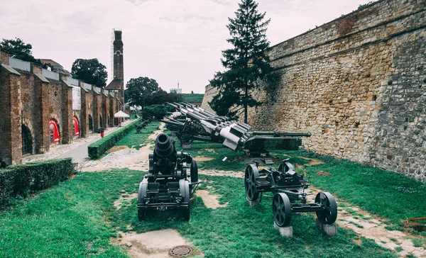
[[[362,238],[352,240],[351,230],[327,237],[315,226],[312,214],[294,215],[293,235],[288,239],[273,228],[271,200],[258,208],[245,201],[242,179],[203,176],[214,194],[222,195],[225,208],[206,208],[195,198],[191,220],[153,216],[139,222],[136,198],[114,207],[120,194],[138,191],[143,173],[114,169],[81,172],[34,198],[19,201],[0,214],[0,257],[126,257],[124,248],[109,243],[121,231],[146,232],[174,228],[205,257],[395,257],[395,254]]]

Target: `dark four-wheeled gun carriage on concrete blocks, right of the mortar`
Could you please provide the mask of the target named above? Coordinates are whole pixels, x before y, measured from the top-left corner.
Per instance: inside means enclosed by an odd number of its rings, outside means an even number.
[[[246,167],[244,188],[249,202],[261,202],[263,193],[273,193],[273,219],[278,227],[290,224],[292,213],[315,212],[322,224],[332,224],[337,218],[337,203],[328,192],[321,192],[313,203],[307,203],[305,189],[309,187],[303,174],[298,174],[288,159],[278,170],[258,170],[258,162]]]

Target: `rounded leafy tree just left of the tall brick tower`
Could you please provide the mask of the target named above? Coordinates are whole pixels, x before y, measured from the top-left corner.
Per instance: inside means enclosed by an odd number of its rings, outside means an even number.
[[[99,88],[107,86],[107,67],[101,64],[97,58],[75,60],[72,63],[71,74],[73,78],[81,79]]]

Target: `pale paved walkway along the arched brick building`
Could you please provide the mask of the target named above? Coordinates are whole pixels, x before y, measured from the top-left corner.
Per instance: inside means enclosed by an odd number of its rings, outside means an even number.
[[[131,120],[126,120],[121,125],[125,126],[131,123]],[[110,133],[118,130],[122,127],[114,127],[108,128],[105,130],[105,135],[109,135]],[[73,162],[86,162],[89,160],[89,155],[87,153],[87,146],[101,139],[100,133],[91,133],[87,138],[77,138],[73,142],[67,145],[57,145],[55,147],[50,147],[50,150],[43,154],[30,155],[27,157],[23,157],[22,162],[40,162],[48,159],[62,159],[66,157],[72,157]]]

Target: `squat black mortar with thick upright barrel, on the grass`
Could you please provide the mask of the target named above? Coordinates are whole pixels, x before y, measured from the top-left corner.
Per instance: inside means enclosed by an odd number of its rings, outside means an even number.
[[[175,210],[189,220],[190,200],[200,184],[195,160],[185,152],[176,152],[175,140],[161,133],[148,162],[148,174],[139,185],[138,219],[145,219],[150,212]]]

